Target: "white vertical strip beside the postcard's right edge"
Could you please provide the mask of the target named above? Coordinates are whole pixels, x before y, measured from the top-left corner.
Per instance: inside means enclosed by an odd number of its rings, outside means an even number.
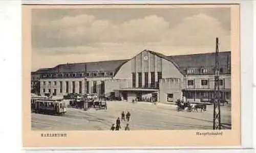
[[[241,134],[242,147],[252,147],[253,1],[241,1]]]

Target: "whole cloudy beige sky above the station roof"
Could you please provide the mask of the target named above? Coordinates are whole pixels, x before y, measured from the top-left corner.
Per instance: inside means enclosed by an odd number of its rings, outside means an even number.
[[[32,67],[230,51],[230,8],[33,9]]]

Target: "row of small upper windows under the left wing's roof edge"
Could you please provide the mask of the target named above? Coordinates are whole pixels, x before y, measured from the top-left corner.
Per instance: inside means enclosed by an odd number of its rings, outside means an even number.
[[[44,74],[41,78],[82,78],[82,77],[111,77],[114,72],[89,72],[84,73],[62,73],[62,74]]]

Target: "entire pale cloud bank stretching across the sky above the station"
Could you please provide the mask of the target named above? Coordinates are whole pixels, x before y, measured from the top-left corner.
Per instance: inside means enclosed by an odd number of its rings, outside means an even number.
[[[215,52],[216,37],[221,50],[230,50],[230,31],[218,19],[202,13],[179,23],[154,14],[121,23],[86,14],[36,20],[32,25],[33,69],[127,59],[143,49],[166,55]]]

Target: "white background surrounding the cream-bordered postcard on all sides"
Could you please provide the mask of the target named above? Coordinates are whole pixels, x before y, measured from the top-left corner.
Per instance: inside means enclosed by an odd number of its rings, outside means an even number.
[[[188,4],[188,3],[240,3],[241,5],[241,90],[242,90],[242,114],[241,114],[241,127],[242,127],[242,148],[251,148],[252,144],[252,49],[253,49],[253,36],[252,36],[252,23],[253,23],[253,2],[256,8],[256,2],[252,0],[242,1],[23,1],[23,3],[30,4]],[[22,147],[21,132],[22,125],[21,118],[21,100],[22,94],[22,76],[21,70],[21,10],[20,1],[0,1],[0,70],[3,73],[11,75],[0,75],[0,95],[1,102],[8,102],[9,107],[2,105],[0,109],[1,125],[0,125],[0,144],[4,148],[0,152],[18,152]],[[256,22],[254,22],[255,27]],[[256,29],[256,28],[255,28]],[[256,32],[254,31],[256,34]],[[256,56],[256,54],[254,55]],[[1,74],[2,74],[1,73]],[[16,91],[17,90],[17,91]],[[254,91],[254,95],[256,92]],[[2,97],[2,95],[5,95]],[[13,96],[15,95],[15,96]],[[10,101],[11,97],[11,101]],[[8,108],[8,109],[5,109]],[[12,113],[10,115],[10,109]],[[17,117],[19,120],[17,121]],[[2,124],[4,123],[4,124]],[[15,146],[15,147],[14,147]],[[17,148],[16,148],[17,146]],[[14,149],[13,151],[11,151]],[[16,150],[15,150],[16,149]],[[68,149],[68,148],[66,148]],[[217,152],[250,152],[251,149],[215,149]],[[216,152],[209,149],[180,149],[173,150],[172,152]],[[31,152],[31,151],[29,151]],[[32,151],[34,152],[34,151]],[[41,152],[41,151],[37,151]],[[44,151],[45,152],[45,151]],[[52,152],[52,151],[47,151]],[[71,151],[54,151],[54,152],[71,152]],[[80,152],[80,151],[76,151]],[[83,151],[83,152],[103,152],[103,150]],[[170,150],[104,150],[104,152],[170,152]]]

